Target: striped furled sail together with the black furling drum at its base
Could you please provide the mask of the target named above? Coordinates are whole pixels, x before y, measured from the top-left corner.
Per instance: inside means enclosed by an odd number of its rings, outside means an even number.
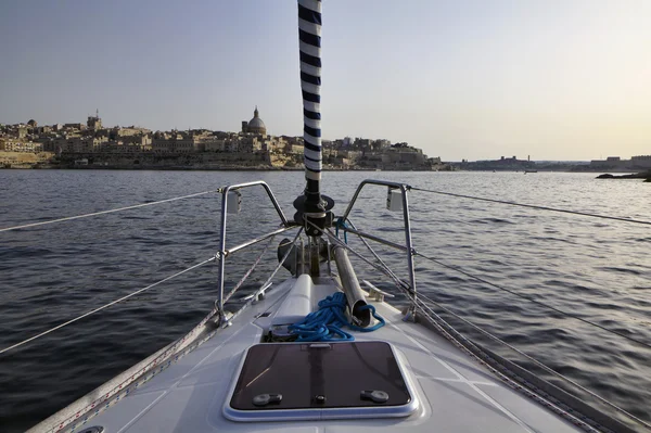
[[[321,0],[298,0],[298,40],[306,187],[294,201],[294,220],[308,235],[320,237],[334,218],[334,201],[321,194]]]

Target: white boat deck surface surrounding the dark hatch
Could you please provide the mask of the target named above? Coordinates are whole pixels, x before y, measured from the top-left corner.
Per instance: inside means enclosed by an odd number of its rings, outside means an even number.
[[[270,291],[265,301],[244,310],[233,326],[78,429],[102,425],[106,433],[580,431],[500,383],[442,336],[420,324],[404,322],[398,310],[378,303],[374,305],[386,326],[371,333],[355,333],[355,338],[388,342],[405,358],[421,403],[413,415],[370,420],[229,421],[222,407],[242,354],[260,342],[263,327],[273,319],[295,281],[288,280]],[[331,286],[315,285],[314,290],[324,296]],[[256,320],[256,315],[264,311],[272,314]]]

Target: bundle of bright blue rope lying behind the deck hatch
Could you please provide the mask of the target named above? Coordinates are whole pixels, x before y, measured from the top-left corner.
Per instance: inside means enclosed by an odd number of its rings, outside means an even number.
[[[310,313],[299,322],[290,324],[289,330],[298,335],[296,341],[299,342],[355,341],[355,336],[344,331],[343,327],[348,327],[353,331],[371,332],[384,326],[384,319],[375,313],[375,307],[365,305],[360,309],[370,309],[378,323],[370,328],[361,328],[348,322],[344,313],[346,296],[343,292],[336,292],[319,301],[319,310]]]

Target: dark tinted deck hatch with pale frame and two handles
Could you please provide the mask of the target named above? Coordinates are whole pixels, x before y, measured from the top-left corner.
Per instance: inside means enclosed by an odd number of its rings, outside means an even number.
[[[385,342],[254,345],[229,397],[225,415],[240,421],[348,418],[353,412],[405,417],[418,406]]]

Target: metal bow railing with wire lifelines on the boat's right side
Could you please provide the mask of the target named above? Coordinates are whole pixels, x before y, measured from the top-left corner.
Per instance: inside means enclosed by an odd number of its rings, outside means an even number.
[[[378,184],[378,186],[385,186],[388,188],[399,188],[400,189],[401,195],[403,195],[403,206],[404,206],[403,219],[404,219],[404,225],[405,225],[405,240],[406,240],[405,245],[400,245],[398,243],[392,242],[392,241],[383,239],[381,237],[363,232],[363,231],[359,230],[357,227],[355,227],[355,225],[353,225],[353,222],[348,218],[350,211],[353,209],[353,206],[356,203],[361,189],[366,184]],[[412,188],[408,184],[390,182],[390,181],[365,180],[357,188],[357,190],[350,201],[350,204],[348,205],[348,208],[346,209],[344,215],[339,218],[337,228],[343,229],[344,232],[349,232],[349,233],[356,234],[359,238],[359,240],[363,243],[363,245],[367,247],[367,250],[371,253],[374,260],[369,259],[368,257],[365,257],[362,254],[360,254],[359,252],[357,252],[356,250],[350,247],[350,245],[347,242],[343,242],[341,239],[339,239],[339,235],[332,233],[332,230],[327,230],[324,232],[331,242],[333,242],[336,245],[345,247],[347,251],[355,254],[358,258],[360,258],[367,265],[371,266],[372,268],[374,268],[376,270],[380,270],[382,273],[387,276],[394,282],[394,284],[398,289],[398,291],[403,295],[405,295],[409,302],[409,308],[407,310],[407,314],[405,315],[406,320],[414,320],[414,321],[422,322],[423,324],[432,326],[432,328],[434,328],[437,332],[442,333],[444,336],[446,336],[448,340],[450,340],[454,344],[460,346],[462,349],[464,349],[464,352],[469,353],[469,355],[477,358],[481,364],[486,365],[490,371],[496,373],[500,379],[505,380],[516,391],[524,390],[524,393],[526,395],[531,396],[529,395],[531,393],[527,394],[527,390],[531,391],[533,389],[534,390],[533,395],[535,395],[535,397],[538,399],[538,403],[541,403],[542,405],[549,407],[553,411],[557,411],[559,415],[563,416],[564,418],[567,418],[575,424],[584,428],[584,430],[586,430],[586,431],[597,431],[596,429],[599,429],[599,431],[603,431],[603,428],[605,428],[607,429],[605,431],[612,430],[612,431],[616,431],[616,432],[633,432],[633,430],[630,430],[628,426],[622,424],[620,421],[609,417],[608,415],[603,413],[602,411],[595,409],[593,407],[589,406],[583,399],[578,398],[574,394],[570,394],[566,391],[559,389],[558,386],[537,377],[536,374],[531,373],[529,371],[522,368],[518,364],[510,361],[506,358],[502,358],[486,348],[481,347],[477,343],[465,338],[457,329],[455,329],[452,326],[448,324],[433,309],[433,307],[437,307],[441,310],[445,311],[446,314],[451,315],[452,317],[461,320],[463,323],[470,326],[474,330],[488,336],[490,340],[496,341],[499,344],[513,351],[518,355],[523,356],[525,359],[533,362],[535,366],[541,368],[544,371],[562,380],[564,383],[567,383],[567,384],[574,386],[576,390],[579,390],[580,392],[587,394],[593,400],[596,400],[600,404],[603,404],[603,405],[610,407],[611,409],[614,409],[616,412],[621,413],[622,416],[624,416],[628,420],[633,421],[634,423],[637,423],[638,425],[644,426],[647,429],[651,429],[651,424],[649,424],[647,421],[620,408],[618,406],[614,405],[613,403],[609,402],[608,399],[599,396],[598,394],[591,392],[590,390],[586,389],[585,386],[582,386],[580,384],[573,381],[572,379],[566,378],[565,375],[553,370],[552,368],[544,365],[542,362],[538,361],[537,359],[533,358],[532,356],[518,349],[513,345],[505,342],[503,340],[499,339],[498,336],[485,331],[481,327],[462,318],[461,316],[451,311],[449,308],[445,307],[444,305],[436,303],[434,300],[432,300],[423,294],[418,294],[418,296],[417,296],[416,285],[414,285],[414,277],[416,276],[413,272],[413,258],[418,256],[418,257],[426,259],[431,263],[434,263],[434,264],[437,264],[445,268],[448,268],[450,270],[459,271],[462,275],[470,277],[483,284],[490,285],[494,289],[498,289],[500,291],[505,291],[507,293],[516,295],[521,298],[536,303],[545,308],[553,310],[554,313],[562,314],[566,317],[579,320],[586,324],[599,328],[605,332],[624,338],[628,341],[631,341],[631,342],[639,344],[641,346],[644,346],[647,348],[651,348],[651,344],[649,344],[644,341],[623,334],[621,332],[617,332],[615,330],[612,330],[612,329],[603,327],[599,323],[596,323],[591,320],[588,320],[588,319],[582,318],[579,316],[570,314],[567,311],[561,310],[561,309],[556,308],[551,305],[548,305],[544,302],[540,302],[540,301],[537,301],[529,296],[518,293],[514,290],[502,288],[502,286],[495,284],[490,281],[487,281],[481,277],[477,277],[470,272],[467,272],[463,269],[460,269],[459,267],[448,265],[443,260],[439,260],[437,258],[430,257],[427,255],[419,253],[413,247],[413,243],[412,243],[412,239],[411,239],[411,231],[410,231],[411,225],[409,221],[409,209],[408,209],[408,200],[407,200],[407,194],[410,190],[442,193],[442,194],[446,194],[446,195],[459,196],[462,199],[476,199],[476,200],[482,200],[482,201],[496,202],[496,203],[500,203],[500,204],[531,207],[531,208],[535,208],[535,209],[539,209],[539,211],[561,212],[561,213],[566,213],[566,214],[575,214],[575,215],[579,215],[579,216],[603,218],[603,219],[626,221],[626,222],[633,222],[633,224],[651,225],[651,222],[643,221],[643,220],[637,220],[637,219],[629,219],[629,218],[611,217],[611,216],[588,214],[588,213],[582,213],[582,212],[574,212],[574,211],[569,211],[569,209],[559,209],[559,208],[553,208],[553,207],[548,207],[548,206],[527,205],[527,204],[506,202],[506,201],[499,201],[499,200],[493,200],[493,199],[474,198],[471,195],[445,193],[445,192],[441,192],[441,191]],[[367,240],[378,242],[378,243],[387,245],[390,247],[393,247],[395,250],[407,253],[407,256],[408,256],[407,265],[408,265],[408,269],[409,269],[409,279],[410,279],[409,283],[396,276],[396,273],[386,265],[386,263],[380,257],[380,255],[371,247],[371,245],[369,244],[369,242],[367,242]],[[418,316],[417,316],[417,313],[418,313]],[[576,418],[576,413],[578,413],[578,412],[583,413],[583,418],[580,418],[580,419]]]

